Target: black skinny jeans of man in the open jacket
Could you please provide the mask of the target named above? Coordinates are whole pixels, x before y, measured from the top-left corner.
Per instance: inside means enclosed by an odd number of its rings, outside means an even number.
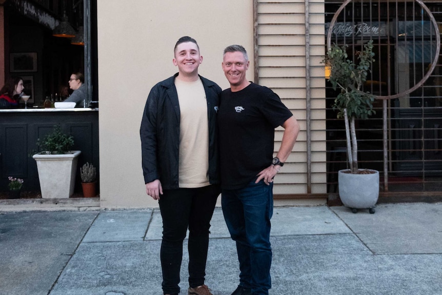
[[[219,193],[219,185],[209,185],[201,188],[164,190],[164,194],[160,196],[158,204],[163,218],[160,259],[165,294],[179,293],[179,271],[187,228],[189,285],[194,288],[204,284],[210,220]]]

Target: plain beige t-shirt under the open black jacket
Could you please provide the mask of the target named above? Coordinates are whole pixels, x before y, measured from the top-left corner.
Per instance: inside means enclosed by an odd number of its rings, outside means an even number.
[[[208,186],[209,125],[203,82],[175,79],[180,111],[179,166],[180,188]]]

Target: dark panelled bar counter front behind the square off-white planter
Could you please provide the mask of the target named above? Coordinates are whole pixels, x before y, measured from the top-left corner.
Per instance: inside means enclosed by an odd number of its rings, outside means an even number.
[[[81,192],[79,169],[89,162],[97,168],[98,109],[91,108],[28,108],[0,110],[0,190],[8,190],[8,176],[24,180],[25,191],[39,191],[37,165],[32,154],[38,151],[37,139],[43,140],[60,124],[74,137],[72,150],[81,150],[75,180],[75,192]]]

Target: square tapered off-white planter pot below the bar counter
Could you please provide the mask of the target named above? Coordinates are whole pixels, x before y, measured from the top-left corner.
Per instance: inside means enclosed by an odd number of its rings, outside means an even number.
[[[78,156],[81,151],[66,154],[34,154],[42,198],[69,198],[74,193]]]

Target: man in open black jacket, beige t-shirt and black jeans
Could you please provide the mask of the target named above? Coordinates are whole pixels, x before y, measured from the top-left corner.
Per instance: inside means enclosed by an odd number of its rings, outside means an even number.
[[[149,93],[140,128],[146,193],[163,218],[163,292],[179,293],[183,240],[189,228],[189,295],[212,295],[204,284],[209,228],[219,187],[216,113],[221,88],[198,75],[196,41],[179,38],[178,73]]]

